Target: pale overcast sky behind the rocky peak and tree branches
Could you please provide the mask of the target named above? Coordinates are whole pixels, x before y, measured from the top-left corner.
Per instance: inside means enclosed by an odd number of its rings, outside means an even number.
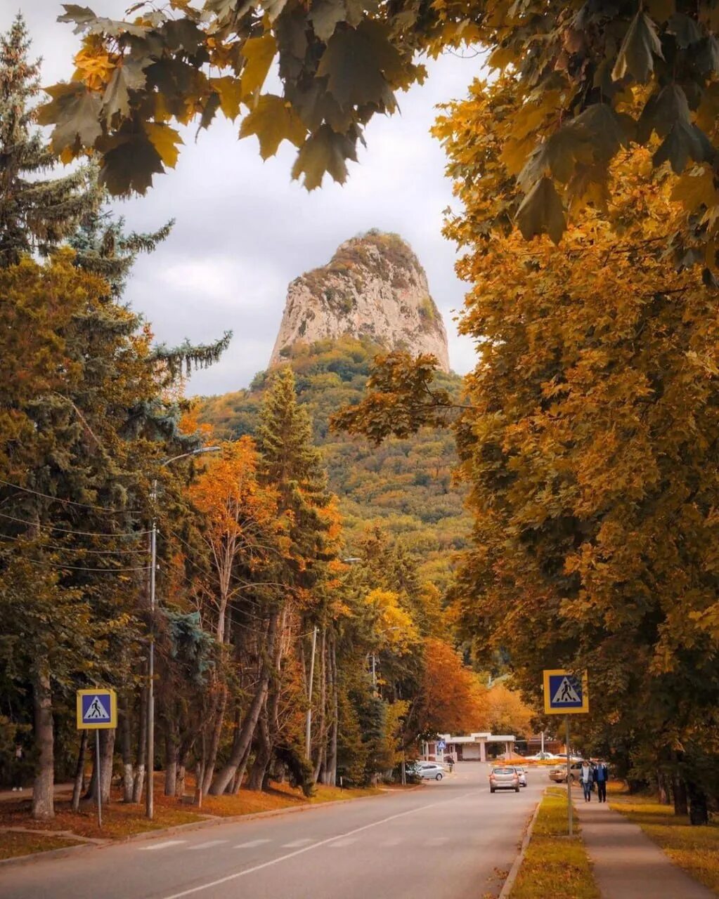
[[[87,4],[113,18],[128,5]],[[43,84],[69,77],[78,38],[71,25],[56,21],[60,3],[0,0],[3,31],[18,8],[34,54],[43,58]],[[349,164],[344,187],[326,176],[320,190],[308,193],[290,179],[293,147],[285,142],[263,163],[256,138],[238,141],[238,126],[218,116],[196,143],[194,129],[186,130],[175,170],[156,176],[146,197],[118,204],[134,229],[176,219],[165,244],[139,259],[126,294],[151,322],[157,340],[173,344],[186,336],[205,343],[225,330],[234,333],[222,360],[195,374],[188,393],[247,387],[266,368],[288,283],[327,263],[338,244],[371,227],[396,231],[412,245],[445,316],[451,365],[460,373],[472,368],[472,343],[456,334],[452,320],[464,293],[454,276],[454,245],[440,233],[442,210],[454,198],[442,148],[428,130],[436,103],[463,97],[480,74],[480,60],[447,55],[428,67],[424,86],[400,93],[401,115],[370,123],[368,147],[360,150],[359,165]]]

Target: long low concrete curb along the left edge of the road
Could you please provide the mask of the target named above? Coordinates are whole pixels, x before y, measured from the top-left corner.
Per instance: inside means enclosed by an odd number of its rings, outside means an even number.
[[[410,787],[401,792],[409,793],[421,788],[421,784],[417,787]],[[106,849],[108,846],[121,846],[123,843],[139,842],[144,840],[152,840],[155,837],[172,836],[175,833],[183,833],[185,831],[202,830],[206,827],[216,827],[218,824],[237,824],[243,821],[256,821],[258,818],[274,818],[281,814],[295,814],[297,812],[309,812],[318,808],[329,808],[330,806],[346,806],[350,802],[365,802],[367,799],[377,799],[386,797],[388,794],[400,792],[400,790],[382,790],[381,793],[375,793],[373,796],[360,796],[355,799],[333,799],[331,802],[302,803],[299,806],[286,806],[285,808],[271,808],[266,812],[252,812],[251,814],[231,814],[231,815],[211,815],[203,821],[191,821],[186,824],[175,824],[172,827],[159,827],[157,830],[142,831],[139,833],[130,833],[129,836],[122,837],[118,840],[102,840],[85,842],[90,838],[69,835],[62,832],[62,838],[67,840],[82,840],[79,846],[63,846],[60,849],[51,849],[46,852],[31,852],[30,855],[16,855],[10,859],[0,859],[0,868],[6,865],[28,865],[43,859],[60,859],[64,855],[71,855],[77,850]],[[54,834],[53,834],[54,835]],[[59,835],[59,834],[58,834]]]

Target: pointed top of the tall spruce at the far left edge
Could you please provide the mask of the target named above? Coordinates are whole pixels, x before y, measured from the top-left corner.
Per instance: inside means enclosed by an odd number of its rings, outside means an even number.
[[[30,61],[30,44],[18,14],[0,36],[0,266],[23,253],[47,254],[100,199],[88,166],[47,177],[57,157],[34,127],[40,62]]]

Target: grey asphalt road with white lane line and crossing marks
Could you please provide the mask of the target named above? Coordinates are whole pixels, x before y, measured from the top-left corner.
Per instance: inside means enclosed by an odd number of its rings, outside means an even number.
[[[481,899],[498,895],[547,780],[487,766],[410,792],[218,824],[0,870],[2,899]]]

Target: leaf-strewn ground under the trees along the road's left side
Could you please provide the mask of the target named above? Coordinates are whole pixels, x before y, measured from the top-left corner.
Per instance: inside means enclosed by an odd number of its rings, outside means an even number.
[[[188,783],[188,790],[192,789],[192,783]],[[163,779],[161,774],[155,778],[155,814],[152,821],[145,817],[145,805],[125,805],[121,802],[121,793],[112,792],[112,802],[103,806],[103,828],[97,826],[97,813],[93,803],[83,804],[80,811],[75,813],[70,808],[68,799],[57,799],[55,802],[55,817],[49,822],[33,822],[30,816],[30,799],[18,799],[15,802],[4,802],[0,806],[0,831],[3,827],[26,827],[41,829],[49,832],[72,832],[78,836],[102,838],[104,840],[121,840],[135,833],[162,830],[166,827],[174,827],[177,824],[189,824],[206,820],[208,817],[231,817],[241,814],[256,814],[257,812],[270,812],[292,806],[310,805],[310,803],[334,802],[338,799],[355,799],[364,796],[374,796],[379,789],[345,789],[338,787],[317,788],[315,796],[307,799],[302,796],[300,789],[295,789],[287,784],[276,784],[267,792],[254,792],[242,790],[238,796],[208,796],[202,799],[202,808],[182,804],[175,797],[166,797],[162,794]],[[57,849],[56,845],[49,845],[48,841],[57,841],[59,837],[45,837],[38,834],[17,834],[0,832],[0,859],[9,855],[23,855],[26,852],[15,850],[15,844],[23,842],[26,851],[41,852],[46,849]],[[64,840],[63,845],[73,845],[72,841]],[[27,847],[31,847],[27,849]]]

